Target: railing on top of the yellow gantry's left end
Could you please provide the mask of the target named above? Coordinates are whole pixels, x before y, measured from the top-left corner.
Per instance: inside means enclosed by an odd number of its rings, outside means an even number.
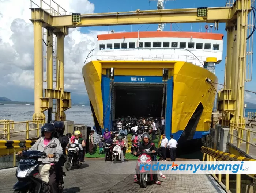
[[[40,5],[36,4],[34,1],[30,0],[30,8],[33,8],[34,6],[39,7],[53,16],[66,15],[67,13],[67,11],[63,9],[59,4],[57,4],[54,0],[48,0],[49,3],[46,3],[44,0],[40,0]]]

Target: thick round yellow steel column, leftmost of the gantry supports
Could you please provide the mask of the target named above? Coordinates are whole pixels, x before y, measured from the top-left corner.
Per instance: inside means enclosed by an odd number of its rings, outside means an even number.
[[[45,119],[42,112],[43,97],[43,27],[42,22],[33,21],[34,25],[34,108],[33,120]]]

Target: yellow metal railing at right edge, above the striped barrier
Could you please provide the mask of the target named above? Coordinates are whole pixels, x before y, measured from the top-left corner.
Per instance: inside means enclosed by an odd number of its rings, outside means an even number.
[[[237,131],[237,134],[234,133],[235,130]],[[256,144],[252,143],[253,137],[256,135],[255,131],[252,131],[248,128],[242,128],[242,127],[230,125],[229,134],[230,134],[229,142],[231,144],[233,144],[234,137],[237,139],[237,148],[240,148],[241,143],[243,143],[243,142],[246,143],[246,148],[245,148],[246,154],[249,155],[250,147],[252,147],[255,150]],[[251,136],[251,134],[252,134],[252,136]],[[246,136],[246,138],[244,136]]]

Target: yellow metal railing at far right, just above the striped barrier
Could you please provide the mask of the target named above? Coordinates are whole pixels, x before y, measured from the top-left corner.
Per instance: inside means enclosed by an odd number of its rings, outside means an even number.
[[[237,135],[234,135],[234,130],[237,130]],[[246,132],[246,140],[243,139],[243,133],[244,133],[243,131]],[[255,144],[250,142],[250,134],[251,133],[256,134],[255,131],[251,131],[250,129],[230,125],[230,130],[229,130],[230,139],[229,139],[229,142],[233,143],[233,137],[236,137],[237,138],[237,148],[240,148],[240,143],[245,142],[246,143],[245,153],[249,154],[250,145],[253,146],[253,147],[256,147]]]

